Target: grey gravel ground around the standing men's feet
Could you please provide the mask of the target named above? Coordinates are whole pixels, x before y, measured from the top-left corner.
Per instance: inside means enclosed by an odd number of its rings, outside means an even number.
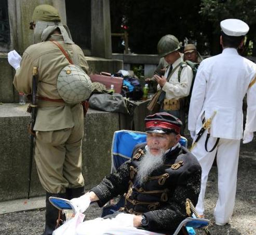
[[[241,145],[237,195],[234,213],[230,224],[217,226],[214,224],[213,209],[217,201],[217,167],[213,166],[209,175],[206,192],[206,218],[210,219],[208,227],[212,235],[249,235],[256,234],[256,140]],[[100,216],[97,204],[92,204],[86,211],[86,219]],[[44,230],[44,210],[25,211],[0,215],[1,235],[37,235]],[[198,230],[197,234],[204,234]]]

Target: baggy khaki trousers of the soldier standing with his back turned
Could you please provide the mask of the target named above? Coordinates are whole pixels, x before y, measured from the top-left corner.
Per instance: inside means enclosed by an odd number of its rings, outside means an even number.
[[[66,188],[84,186],[82,175],[82,107],[73,112],[74,127],[36,131],[35,162],[39,180],[49,193],[65,193]]]

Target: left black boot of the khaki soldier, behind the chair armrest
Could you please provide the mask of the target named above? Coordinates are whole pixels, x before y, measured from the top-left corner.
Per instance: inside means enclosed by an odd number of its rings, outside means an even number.
[[[52,235],[56,229],[59,210],[49,202],[49,197],[66,198],[66,194],[51,194],[46,192],[45,231],[42,235]]]

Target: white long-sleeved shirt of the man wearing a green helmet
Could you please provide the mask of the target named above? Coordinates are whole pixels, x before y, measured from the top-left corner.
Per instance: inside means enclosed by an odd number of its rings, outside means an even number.
[[[182,68],[180,82],[178,80],[178,71],[180,68],[180,63],[183,62],[182,57],[180,57],[177,61],[172,64],[172,69],[177,69],[173,72],[168,82],[162,87],[162,90],[166,92],[166,99],[179,99],[182,97],[186,97],[190,94],[190,88],[193,79],[193,71],[190,66],[185,66]],[[167,68],[165,72],[165,77],[169,73],[170,66]],[[158,90],[160,86],[157,86]]]

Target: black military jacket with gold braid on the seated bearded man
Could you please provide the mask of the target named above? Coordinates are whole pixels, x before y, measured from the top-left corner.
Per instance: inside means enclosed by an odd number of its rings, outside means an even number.
[[[117,195],[125,196],[125,210],[130,214],[143,214],[149,222],[144,229],[154,232],[174,232],[186,217],[185,201],[197,203],[200,193],[201,167],[196,158],[180,144],[165,155],[164,165],[154,170],[139,185],[136,174],[146,144],[133,150],[133,157],[119,167],[116,173],[106,176],[92,188],[102,207]],[[120,209],[122,210],[122,209]]]

